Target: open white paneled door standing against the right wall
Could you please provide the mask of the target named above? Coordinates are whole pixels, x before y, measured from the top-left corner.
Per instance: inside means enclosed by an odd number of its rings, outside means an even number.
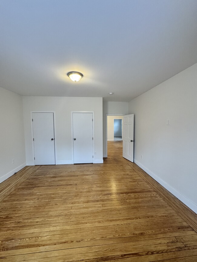
[[[134,114],[123,117],[123,153],[122,156],[133,162],[133,135],[134,135]]]

